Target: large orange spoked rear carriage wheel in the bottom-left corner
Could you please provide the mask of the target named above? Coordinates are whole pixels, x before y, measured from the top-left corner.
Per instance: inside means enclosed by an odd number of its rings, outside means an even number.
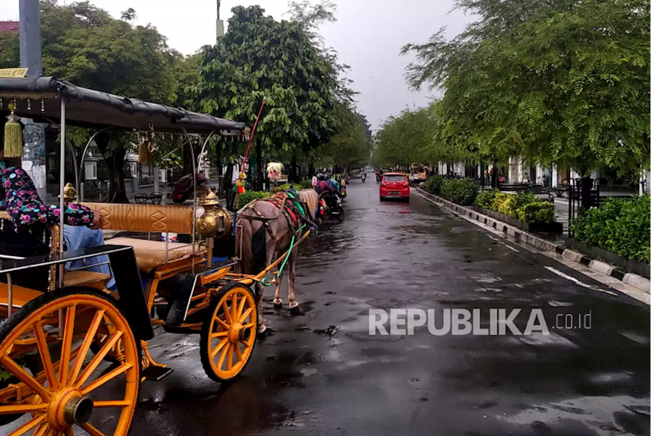
[[[90,345],[100,331],[110,336],[93,356]],[[104,358],[118,342],[122,355],[109,365]],[[22,363],[34,353],[40,372]],[[27,415],[8,436],[128,433],[140,386],[139,349],[109,295],[66,288],[33,299],[0,327],[0,366],[14,381],[0,390],[0,416]]]

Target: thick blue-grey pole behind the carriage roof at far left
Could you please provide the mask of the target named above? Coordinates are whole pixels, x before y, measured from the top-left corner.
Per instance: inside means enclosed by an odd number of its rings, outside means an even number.
[[[27,75],[43,75],[43,61],[40,35],[40,2],[38,0],[19,0],[18,27],[20,39],[20,66],[27,68]],[[38,196],[46,200],[45,167],[45,126],[35,124],[30,118],[22,118],[25,125],[23,132],[24,154],[23,169],[31,176],[38,191]],[[63,156],[61,156],[63,159]],[[59,183],[64,183],[61,180]]]

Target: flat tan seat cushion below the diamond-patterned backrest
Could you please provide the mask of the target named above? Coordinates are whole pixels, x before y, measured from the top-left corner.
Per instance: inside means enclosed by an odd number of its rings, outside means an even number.
[[[111,245],[130,245],[135,251],[135,262],[138,269],[145,273],[156,269],[165,264],[165,242],[148,241],[146,239],[135,238],[113,238]],[[167,261],[180,260],[187,258],[192,254],[192,244],[174,243],[167,244],[168,254]],[[196,252],[205,251],[204,247],[196,245]]]

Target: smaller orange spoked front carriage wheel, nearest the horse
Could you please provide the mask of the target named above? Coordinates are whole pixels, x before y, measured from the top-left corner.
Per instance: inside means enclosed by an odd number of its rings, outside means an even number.
[[[201,329],[201,364],[210,379],[231,381],[251,358],[258,332],[258,307],[251,288],[221,288],[206,310]]]

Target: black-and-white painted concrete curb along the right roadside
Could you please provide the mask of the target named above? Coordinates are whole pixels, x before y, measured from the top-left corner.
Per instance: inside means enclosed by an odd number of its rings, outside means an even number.
[[[587,266],[598,273],[613,277],[613,279],[620,280],[620,282],[624,282],[643,292],[651,293],[651,280],[646,279],[646,277],[642,277],[641,275],[634,273],[627,273],[626,271],[602,262],[601,260],[590,259],[589,257],[585,256],[585,254],[566,249],[561,245],[547,241],[546,239],[542,239],[538,236],[534,236],[531,233],[524,232],[517,227],[508,225],[503,221],[499,221],[495,218],[489,217],[488,215],[484,215],[483,213],[479,213],[474,209],[459,206],[458,204],[446,200],[445,198],[430,194],[419,187],[414,187],[412,190],[432,204],[446,208],[456,215],[467,217],[471,220],[477,221],[477,223],[480,224],[492,226],[495,228],[495,230],[501,230],[501,232],[504,234],[513,236],[516,239],[516,242],[526,243],[542,251],[553,251],[556,254],[561,254],[561,256],[567,260],[578,262],[579,264]]]

